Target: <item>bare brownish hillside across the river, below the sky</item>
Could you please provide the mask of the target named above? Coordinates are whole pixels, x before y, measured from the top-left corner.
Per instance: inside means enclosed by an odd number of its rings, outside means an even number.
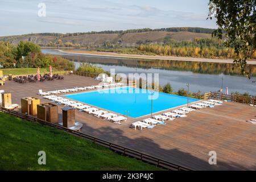
[[[174,40],[193,40],[195,38],[210,38],[211,30],[203,29],[157,29],[133,31],[103,31],[74,34],[26,34],[15,36],[2,36],[0,40],[11,44],[18,44],[20,40],[30,41],[40,46],[66,46],[66,47],[102,47],[106,44],[119,47],[135,47],[139,44],[163,43],[164,38]]]

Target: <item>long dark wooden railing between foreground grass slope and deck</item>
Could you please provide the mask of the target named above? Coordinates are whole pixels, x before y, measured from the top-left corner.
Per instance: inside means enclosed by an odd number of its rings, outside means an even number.
[[[85,138],[85,139],[92,140],[92,142],[98,143],[101,146],[108,147],[108,148],[110,148],[110,150],[113,150],[115,152],[119,152],[123,155],[127,155],[127,156],[130,156],[132,158],[142,160],[143,162],[154,164],[158,167],[163,167],[163,168],[169,169],[171,171],[191,171],[191,169],[179,166],[177,164],[167,162],[166,160],[158,159],[158,158],[155,158],[153,156],[143,154],[142,152],[135,151],[135,150],[127,148],[127,147],[122,147],[122,146],[119,146],[118,144],[107,142],[106,140],[96,138],[96,137],[93,137],[91,135],[81,133],[79,131],[74,131],[74,130],[68,129],[67,127],[64,127],[64,126],[60,126],[60,125],[56,125],[56,124],[53,124],[53,123],[50,123],[50,122],[47,122],[47,121],[43,121],[42,119],[38,119],[38,118],[32,117],[30,115],[20,113],[18,111],[6,109],[5,107],[2,107],[2,106],[0,106],[0,111],[2,111],[4,113],[9,113],[9,114],[15,115],[16,117],[19,117],[19,118],[22,118],[22,119],[26,119],[27,121],[39,122],[39,123],[42,123],[44,125],[52,126],[52,127],[57,128],[57,129],[67,131],[68,133],[74,134],[78,137],[82,137],[82,138]]]

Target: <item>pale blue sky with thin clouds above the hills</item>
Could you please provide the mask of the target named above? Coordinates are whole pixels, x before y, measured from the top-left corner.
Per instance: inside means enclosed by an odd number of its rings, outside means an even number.
[[[209,0],[0,0],[0,36],[135,28],[216,28]]]

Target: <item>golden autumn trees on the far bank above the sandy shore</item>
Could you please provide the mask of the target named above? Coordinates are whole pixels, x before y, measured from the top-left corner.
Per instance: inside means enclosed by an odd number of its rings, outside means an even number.
[[[187,56],[187,57],[225,57],[233,58],[234,48],[225,48],[223,40],[214,38],[196,38],[193,41],[183,40],[181,42],[166,37],[164,44],[141,44],[137,48],[142,53],[151,53],[164,56]],[[256,52],[250,55],[256,59]]]

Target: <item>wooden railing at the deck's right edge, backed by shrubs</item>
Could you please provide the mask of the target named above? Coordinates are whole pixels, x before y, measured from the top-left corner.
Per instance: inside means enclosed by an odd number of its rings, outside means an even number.
[[[210,92],[210,96],[207,98],[217,98],[220,100],[230,100],[233,102],[240,102],[243,104],[253,104],[256,105],[256,98],[255,97],[250,97],[250,96],[243,96],[243,95],[238,95],[238,94],[224,94],[220,92]],[[205,98],[205,99],[207,99]]]

